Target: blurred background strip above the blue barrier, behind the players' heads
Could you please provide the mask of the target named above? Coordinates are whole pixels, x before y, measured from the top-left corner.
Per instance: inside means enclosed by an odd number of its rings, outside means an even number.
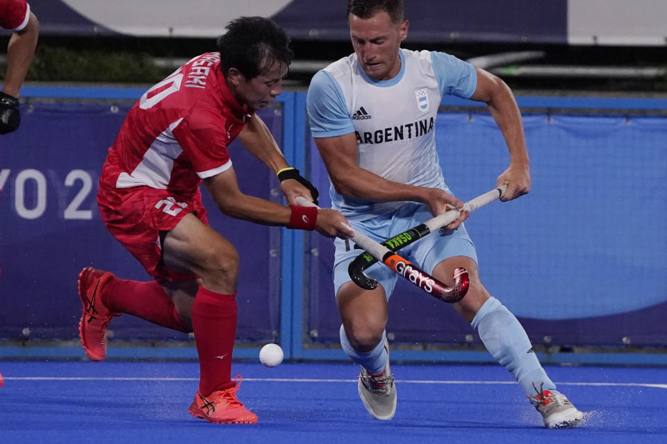
[[[152,84],[215,51],[215,37],[240,15],[272,17],[293,37],[288,87],[307,87],[315,71],[352,52],[342,0],[29,3],[42,24],[33,83]],[[406,0],[405,7],[404,47],[452,53],[513,89],[667,92],[667,2]],[[0,46],[8,38],[3,33]]]

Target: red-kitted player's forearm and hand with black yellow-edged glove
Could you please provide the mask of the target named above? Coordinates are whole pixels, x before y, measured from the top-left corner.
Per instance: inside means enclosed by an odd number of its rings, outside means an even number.
[[[258,160],[263,162],[271,171],[274,173],[279,173],[284,171],[285,173],[293,173],[294,171],[287,171],[290,168],[290,165],[287,163],[285,156],[280,151],[276,140],[271,134],[269,128],[257,114],[253,114],[252,118],[243,126],[243,129],[238,134],[238,139],[245,146],[245,148],[252,153]],[[288,203],[290,205],[296,205],[297,196],[304,196],[308,200],[314,201],[317,196],[317,190],[313,187],[311,190],[308,187],[308,182],[306,179],[301,178],[302,180],[288,178],[284,179],[284,173],[281,173],[279,178],[281,178],[280,189],[285,195]],[[298,171],[297,171],[298,175]],[[312,187],[312,185],[311,185]],[[315,194],[315,196],[313,196]]]

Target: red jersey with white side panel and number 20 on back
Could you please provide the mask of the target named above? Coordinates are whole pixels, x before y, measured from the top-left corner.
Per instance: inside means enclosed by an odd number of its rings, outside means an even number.
[[[227,146],[253,112],[229,91],[219,53],[195,57],[132,107],[109,148],[100,184],[193,194],[201,179],[231,167]]]

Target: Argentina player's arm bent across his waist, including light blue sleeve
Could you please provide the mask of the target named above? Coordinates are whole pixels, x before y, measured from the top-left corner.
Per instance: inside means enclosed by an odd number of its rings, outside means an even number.
[[[445,212],[447,205],[463,206],[441,189],[393,182],[359,167],[352,119],[342,92],[325,71],[311,80],[306,107],[315,145],[338,194],[377,201],[411,200],[428,205],[433,214]]]

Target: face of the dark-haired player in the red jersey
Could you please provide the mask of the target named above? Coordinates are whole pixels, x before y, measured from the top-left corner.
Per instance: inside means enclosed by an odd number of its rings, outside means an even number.
[[[228,83],[236,100],[254,110],[260,110],[283,92],[283,77],[287,75],[288,66],[276,62],[250,80],[235,69],[229,71]]]

